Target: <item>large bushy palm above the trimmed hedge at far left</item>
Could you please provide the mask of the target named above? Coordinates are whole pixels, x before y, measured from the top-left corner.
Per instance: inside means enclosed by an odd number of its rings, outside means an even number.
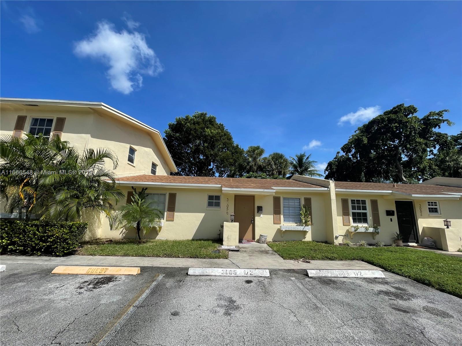
[[[114,203],[124,197],[115,173],[104,167],[105,159],[117,167],[109,149],[86,149],[82,155],[60,137],[0,137],[0,193],[6,210],[15,208],[25,218],[79,219],[84,209],[99,210],[110,217]]]

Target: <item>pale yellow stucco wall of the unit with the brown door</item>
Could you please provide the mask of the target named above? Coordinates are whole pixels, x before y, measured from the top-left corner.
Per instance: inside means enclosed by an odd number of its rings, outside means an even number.
[[[122,186],[122,191],[127,193],[131,191],[129,186]],[[137,187],[140,190],[141,186]],[[221,226],[223,222],[230,221],[231,212],[234,211],[234,193],[223,193],[221,188],[217,189],[192,189],[192,188],[162,188],[148,187],[146,193],[176,193],[175,220],[165,221],[160,233],[156,231],[146,235],[146,238],[157,239],[219,239],[223,235]],[[207,196],[221,195],[220,209],[207,208]],[[280,225],[273,224],[273,195],[255,195],[255,239],[260,237],[260,234],[267,234],[268,240],[317,240],[327,241],[325,227],[325,201],[328,193],[293,193],[280,192],[276,196],[280,197],[299,197],[302,200],[304,197],[311,197],[311,205],[313,209],[313,225],[311,232],[304,237],[302,231],[286,231],[284,237],[281,237]],[[168,203],[168,201],[167,201]],[[282,198],[281,198],[282,203]],[[257,214],[256,207],[263,207],[263,214]],[[282,210],[281,210],[282,212]],[[285,223],[283,215],[281,215],[282,224]],[[91,221],[93,222],[93,221]],[[103,218],[100,222],[94,223],[91,226],[91,234],[86,236],[86,239],[100,238],[134,238],[134,229],[125,231],[111,231],[109,229],[109,221]],[[294,225],[294,224],[292,224]],[[97,232],[94,230],[97,229]]]

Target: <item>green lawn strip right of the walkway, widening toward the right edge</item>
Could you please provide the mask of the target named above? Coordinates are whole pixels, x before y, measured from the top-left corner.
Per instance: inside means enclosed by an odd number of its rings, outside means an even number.
[[[462,298],[462,258],[406,247],[348,247],[314,241],[273,242],[284,259],[360,260]]]

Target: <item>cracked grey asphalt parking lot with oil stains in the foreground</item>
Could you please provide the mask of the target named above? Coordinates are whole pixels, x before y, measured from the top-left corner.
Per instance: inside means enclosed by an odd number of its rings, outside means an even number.
[[[390,273],[50,274],[54,268],[9,263],[0,273],[1,345],[462,345],[462,299]],[[128,310],[142,292],[149,293]]]

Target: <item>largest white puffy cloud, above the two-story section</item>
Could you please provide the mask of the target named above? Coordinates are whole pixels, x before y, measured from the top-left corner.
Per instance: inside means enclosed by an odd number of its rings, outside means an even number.
[[[109,66],[107,76],[111,86],[123,94],[142,86],[142,74],[157,76],[164,71],[143,34],[126,30],[118,32],[114,24],[108,22],[98,23],[91,36],[76,42],[74,53],[101,60]]]

